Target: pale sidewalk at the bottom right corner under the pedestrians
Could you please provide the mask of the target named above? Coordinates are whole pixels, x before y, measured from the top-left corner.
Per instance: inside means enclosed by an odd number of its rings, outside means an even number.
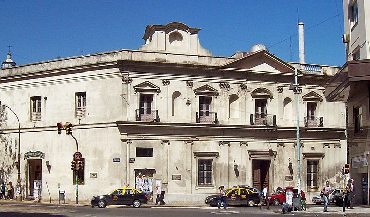
[[[274,210],[275,213],[283,214],[280,210]],[[285,212],[285,214],[297,214],[298,212]],[[343,212],[343,208],[339,206],[328,206],[327,212],[323,212],[323,206],[315,206],[307,208],[306,211],[301,211],[301,214],[312,215],[312,216],[323,216],[323,215],[342,215],[342,216],[370,216],[370,208],[363,205],[357,205],[353,209],[347,209]],[[320,214],[320,215],[318,215]]]

